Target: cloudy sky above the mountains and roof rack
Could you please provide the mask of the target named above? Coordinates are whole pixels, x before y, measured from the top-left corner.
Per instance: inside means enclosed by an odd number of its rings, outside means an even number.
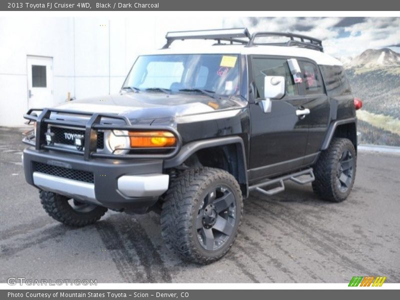
[[[227,17],[223,26],[310,35],[322,39],[324,51],[336,57],[369,48],[400,52],[400,17]]]

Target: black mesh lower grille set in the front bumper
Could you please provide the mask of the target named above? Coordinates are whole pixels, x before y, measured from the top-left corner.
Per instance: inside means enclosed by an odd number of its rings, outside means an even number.
[[[48,175],[94,183],[93,172],[73,170],[66,167],[45,164],[37,161],[33,162],[33,168],[36,172]]]

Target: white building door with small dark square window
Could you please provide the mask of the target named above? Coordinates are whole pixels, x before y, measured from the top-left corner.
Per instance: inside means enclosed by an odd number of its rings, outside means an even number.
[[[28,79],[28,108],[53,106],[52,57],[26,57]]]

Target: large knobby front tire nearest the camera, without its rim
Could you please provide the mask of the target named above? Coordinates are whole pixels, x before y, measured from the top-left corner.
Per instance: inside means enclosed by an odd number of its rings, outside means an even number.
[[[204,193],[214,185],[228,186],[235,198],[233,232],[221,248],[208,251],[198,241],[195,218]],[[232,246],[243,213],[240,186],[228,172],[204,167],[181,172],[170,184],[161,211],[161,235],[166,247],[182,260],[207,264],[218,260]],[[194,223],[193,223],[194,222]]]

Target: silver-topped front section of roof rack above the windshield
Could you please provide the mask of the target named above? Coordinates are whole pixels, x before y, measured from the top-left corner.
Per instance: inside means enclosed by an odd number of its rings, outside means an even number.
[[[233,42],[247,44],[247,40],[240,39],[243,37],[251,38],[251,34],[248,32],[247,28],[170,31],[165,35],[166,43],[162,48],[168,48],[174,40],[178,39],[213,39],[217,41],[217,44],[220,44],[221,40],[229,41],[231,44],[233,44]]]

